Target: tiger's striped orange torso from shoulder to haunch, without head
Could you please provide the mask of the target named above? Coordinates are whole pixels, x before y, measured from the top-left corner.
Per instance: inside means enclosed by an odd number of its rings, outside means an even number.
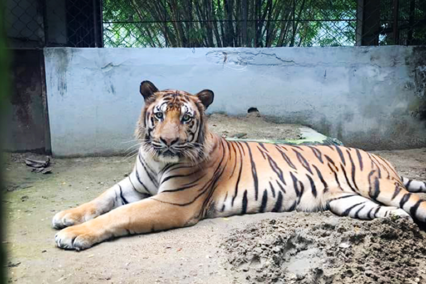
[[[389,212],[393,210],[399,215],[406,215],[395,210],[401,202],[414,207],[417,204],[416,196],[406,192],[388,161],[360,149],[216,139],[217,148],[211,159],[215,163],[200,165],[208,168],[210,174],[201,177],[197,171],[182,175],[184,170],[180,168],[177,172],[170,171],[172,178],[165,177],[170,183],[166,192],[176,189],[186,192],[185,202],[181,204],[197,197],[200,202],[203,200],[200,218],[295,209],[316,211],[330,209],[330,204],[341,199],[343,202],[334,208],[335,213],[350,215],[352,210],[361,209],[356,217],[371,219],[374,213],[380,216],[375,210],[380,209],[381,203],[391,203],[389,206],[394,208],[388,208]],[[190,184],[194,180],[197,183]],[[186,187],[182,189],[181,185]],[[420,205],[423,212],[426,204]],[[411,213],[414,207],[409,208]]]

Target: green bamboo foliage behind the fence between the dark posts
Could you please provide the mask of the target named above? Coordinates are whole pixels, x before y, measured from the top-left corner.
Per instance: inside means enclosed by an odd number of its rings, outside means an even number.
[[[354,45],[356,9],[357,0],[104,0],[104,44]]]

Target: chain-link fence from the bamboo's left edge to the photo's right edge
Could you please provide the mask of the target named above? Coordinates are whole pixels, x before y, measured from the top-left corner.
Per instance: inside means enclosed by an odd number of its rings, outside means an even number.
[[[426,0],[104,0],[107,47],[425,44]]]

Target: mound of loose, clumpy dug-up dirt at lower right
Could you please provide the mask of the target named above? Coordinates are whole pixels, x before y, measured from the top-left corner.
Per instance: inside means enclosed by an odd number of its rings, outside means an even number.
[[[425,283],[426,237],[411,220],[322,220],[263,220],[222,246],[247,283]]]

